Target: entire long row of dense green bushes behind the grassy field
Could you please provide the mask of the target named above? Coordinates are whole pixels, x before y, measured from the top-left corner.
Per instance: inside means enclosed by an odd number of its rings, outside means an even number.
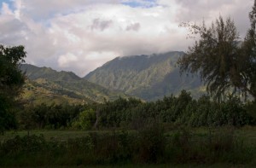
[[[193,99],[183,90],[179,96],[143,102],[134,98],[119,98],[99,104],[31,105],[19,113],[20,129],[75,129],[106,128],[139,129],[154,121],[162,125],[222,126],[255,125],[247,112],[250,104],[237,97],[223,102],[208,96]]]

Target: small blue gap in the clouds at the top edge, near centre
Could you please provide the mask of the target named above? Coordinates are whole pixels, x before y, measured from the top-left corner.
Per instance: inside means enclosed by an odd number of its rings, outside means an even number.
[[[131,8],[153,8],[158,5],[156,0],[123,0],[122,4]]]

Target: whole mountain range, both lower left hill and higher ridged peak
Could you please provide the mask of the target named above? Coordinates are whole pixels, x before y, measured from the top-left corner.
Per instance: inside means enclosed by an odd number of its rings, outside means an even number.
[[[50,67],[30,64],[23,64],[20,69],[40,90],[50,90],[48,93],[53,96],[63,94],[72,101],[102,102],[127,95],[156,101],[164,96],[177,95],[181,90],[199,97],[205,93],[200,78],[197,75],[192,78],[191,74],[181,76],[177,67],[177,60],[183,55],[183,51],[171,51],[116,57],[84,78],[73,72],[58,72]]]

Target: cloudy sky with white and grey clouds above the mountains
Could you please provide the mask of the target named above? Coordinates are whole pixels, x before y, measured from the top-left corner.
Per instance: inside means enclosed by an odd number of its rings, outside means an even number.
[[[117,56],[186,51],[183,22],[235,21],[241,40],[253,0],[0,0],[0,43],[26,63],[80,77]]]

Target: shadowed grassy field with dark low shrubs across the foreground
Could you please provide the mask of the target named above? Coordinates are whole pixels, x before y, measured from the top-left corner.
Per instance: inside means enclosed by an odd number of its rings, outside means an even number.
[[[55,136],[58,134],[61,132]],[[255,128],[191,131],[173,127],[166,132],[152,123],[137,131],[80,132],[80,136],[64,141],[43,135],[15,136],[1,142],[0,166],[207,167],[218,163],[217,167],[253,167],[255,150]]]

